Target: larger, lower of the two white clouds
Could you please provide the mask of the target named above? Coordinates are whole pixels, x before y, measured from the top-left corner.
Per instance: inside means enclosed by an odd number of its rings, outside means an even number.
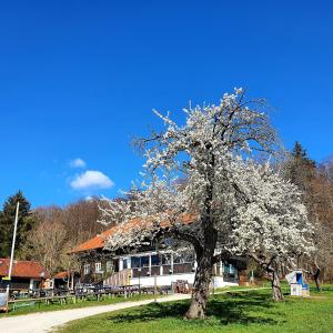
[[[87,170],[78,174],[70,183],[74,190],[110,189],[114,185],[112,180],[101,171]]]

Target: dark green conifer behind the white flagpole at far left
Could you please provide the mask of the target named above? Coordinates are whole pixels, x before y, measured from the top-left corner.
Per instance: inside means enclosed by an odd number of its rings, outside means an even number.
[[[34,224],[33,215],[30,212],[30,203],[23,193],[19,191],[17,194],[9,196],[0,214],[0,256],[2,258],[10,255],[18,201],[20,202],[20,209],[16,249],[19,250],[22,246],[27,233]]]

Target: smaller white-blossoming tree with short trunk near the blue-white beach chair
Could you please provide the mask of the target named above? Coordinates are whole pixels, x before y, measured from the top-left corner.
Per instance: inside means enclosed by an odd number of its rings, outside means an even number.
[[[266,163],[244,172],[245,204],[238,204],[232,238],[239,254],[253,259],[271,280],[275,301],[283,300],[279,268],[294,269],[297,256],[312,255],[314,228],[302,192]],[[250,178],[249,178],[250,175]]]

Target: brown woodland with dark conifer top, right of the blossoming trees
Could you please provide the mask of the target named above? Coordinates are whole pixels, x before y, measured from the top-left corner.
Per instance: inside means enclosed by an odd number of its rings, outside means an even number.
[[[320,290],[320,278],[332,279],[333,263],[333,182],[331,160],[316,165],[301,143],[295,142],[292,153],[283,165],[284,176],[302,191],[309,219],[315,224],[313,239],[315,251],[302,255],[299,265],[312,275]]]

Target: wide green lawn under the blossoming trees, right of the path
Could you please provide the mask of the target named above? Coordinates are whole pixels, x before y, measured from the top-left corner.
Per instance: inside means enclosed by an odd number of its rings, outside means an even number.
[[[333,332],[333,286],[311,299],[271,301],[270,290],[214,295],[208,319],[183,321],[189,301],[152,303],[73,321],[59,333],[102,332]]]

